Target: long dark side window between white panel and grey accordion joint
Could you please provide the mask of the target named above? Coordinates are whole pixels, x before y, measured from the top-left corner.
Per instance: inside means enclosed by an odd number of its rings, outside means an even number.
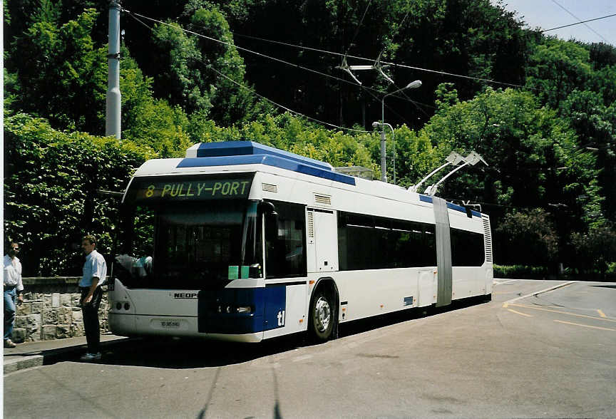
[[[434,226],[339,212],[338,252],[342,271],[435,266]]]

